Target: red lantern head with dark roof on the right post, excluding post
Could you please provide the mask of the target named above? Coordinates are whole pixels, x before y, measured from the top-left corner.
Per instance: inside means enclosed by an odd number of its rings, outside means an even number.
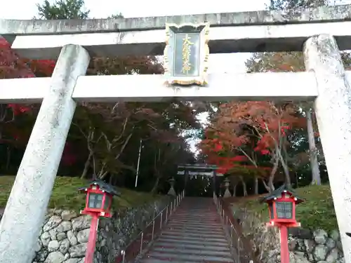
[[[300,227],[300,223],[296,222],[295,210],[296,204],[303,201],[303,198],[296,196],[294,191],[284,184],[269,195],[261,198],[260,202],[267,203],[270,212],[270,222],[267,225]]]

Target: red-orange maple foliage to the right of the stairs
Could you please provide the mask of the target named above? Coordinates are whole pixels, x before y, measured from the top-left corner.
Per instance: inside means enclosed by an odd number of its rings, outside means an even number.
[[[199,147],[208,163],[220,167],[218,172],[228,173],[238,167],[270,171],[271,168],[258,166],[257,157],[274,154],[289,130],[304,123],[289,104],[225,103],[206,128]]]

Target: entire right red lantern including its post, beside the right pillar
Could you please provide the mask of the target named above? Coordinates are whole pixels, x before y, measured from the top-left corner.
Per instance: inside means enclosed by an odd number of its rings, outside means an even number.
[[[282,263],[289,263],[288,227],[300,227],[296,222],[295,208],[304,200],[298,198],[293,191],[285,185],[273,191],[269,196],[261,199],[268,205],[270,212],[269,227],[278,227],[280,231],[280,255]]]

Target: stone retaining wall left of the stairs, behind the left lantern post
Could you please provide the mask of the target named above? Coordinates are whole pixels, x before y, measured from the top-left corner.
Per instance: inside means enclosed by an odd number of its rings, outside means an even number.
[[[121,249],[138,234],[154,213],[169,202],[159,201],[129,208],[112,219],[101,219],[94,263],[114,263]],[[49,210],[35,248],[33,263],[84,263],[91,217],[67,210]]]

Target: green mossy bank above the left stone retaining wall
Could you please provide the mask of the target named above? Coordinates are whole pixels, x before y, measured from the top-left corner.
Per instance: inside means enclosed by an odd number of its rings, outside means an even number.
[[[6,206],[14,181],[15,176],[0,176],[0,208]],[[56,177],[48,208],[81,210],[85,206],[86,195],[79,194],[77,189],[87,183],[87,180],[81,180],[78,177]],[[124,188],[119,188],[118,191],[121,192],[121,197],[114,197],[114,210],[143,205],[159,197]],[[40,189],[38,189],[38,194],[40,194]]]

